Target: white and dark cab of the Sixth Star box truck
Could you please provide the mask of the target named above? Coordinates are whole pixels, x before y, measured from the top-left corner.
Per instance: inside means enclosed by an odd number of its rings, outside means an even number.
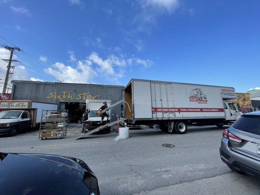
[[[31,114],[27,110],[0,112],[0,135],[15,136],[18,131],[29,129],[31,124]]]

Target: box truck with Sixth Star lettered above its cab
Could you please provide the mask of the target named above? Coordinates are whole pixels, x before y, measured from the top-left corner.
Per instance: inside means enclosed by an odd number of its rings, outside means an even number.
[[[40,125],[42,110],[58,110],[58,104],[32,100],[1,100],[0,135],[15,136],[18,131]]]

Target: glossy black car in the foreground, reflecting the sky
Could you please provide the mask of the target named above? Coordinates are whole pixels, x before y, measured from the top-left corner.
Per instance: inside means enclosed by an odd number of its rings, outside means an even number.
[[[0,195],[100,195],[98,180],[80,159],[0,153]]]

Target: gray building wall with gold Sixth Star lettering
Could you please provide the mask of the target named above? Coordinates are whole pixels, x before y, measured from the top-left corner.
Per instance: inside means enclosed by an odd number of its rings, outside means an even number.
[[[13,80],[12,99],[57,103],[59,109],[64,109],[65,102],[85,102],[86,98],[111,100],[113,104],[123,99],[123,89],[124,86],[117,85]],[[116,120],[123,109],[118,105],[111,113],[111,119]]]

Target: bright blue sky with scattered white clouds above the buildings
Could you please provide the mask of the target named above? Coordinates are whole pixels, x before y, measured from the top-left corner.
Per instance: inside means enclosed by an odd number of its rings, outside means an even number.
[[[260,86],[259,10],[259,0],[0,0],[0,43],[24,51],[12,79],[246,92]]]

